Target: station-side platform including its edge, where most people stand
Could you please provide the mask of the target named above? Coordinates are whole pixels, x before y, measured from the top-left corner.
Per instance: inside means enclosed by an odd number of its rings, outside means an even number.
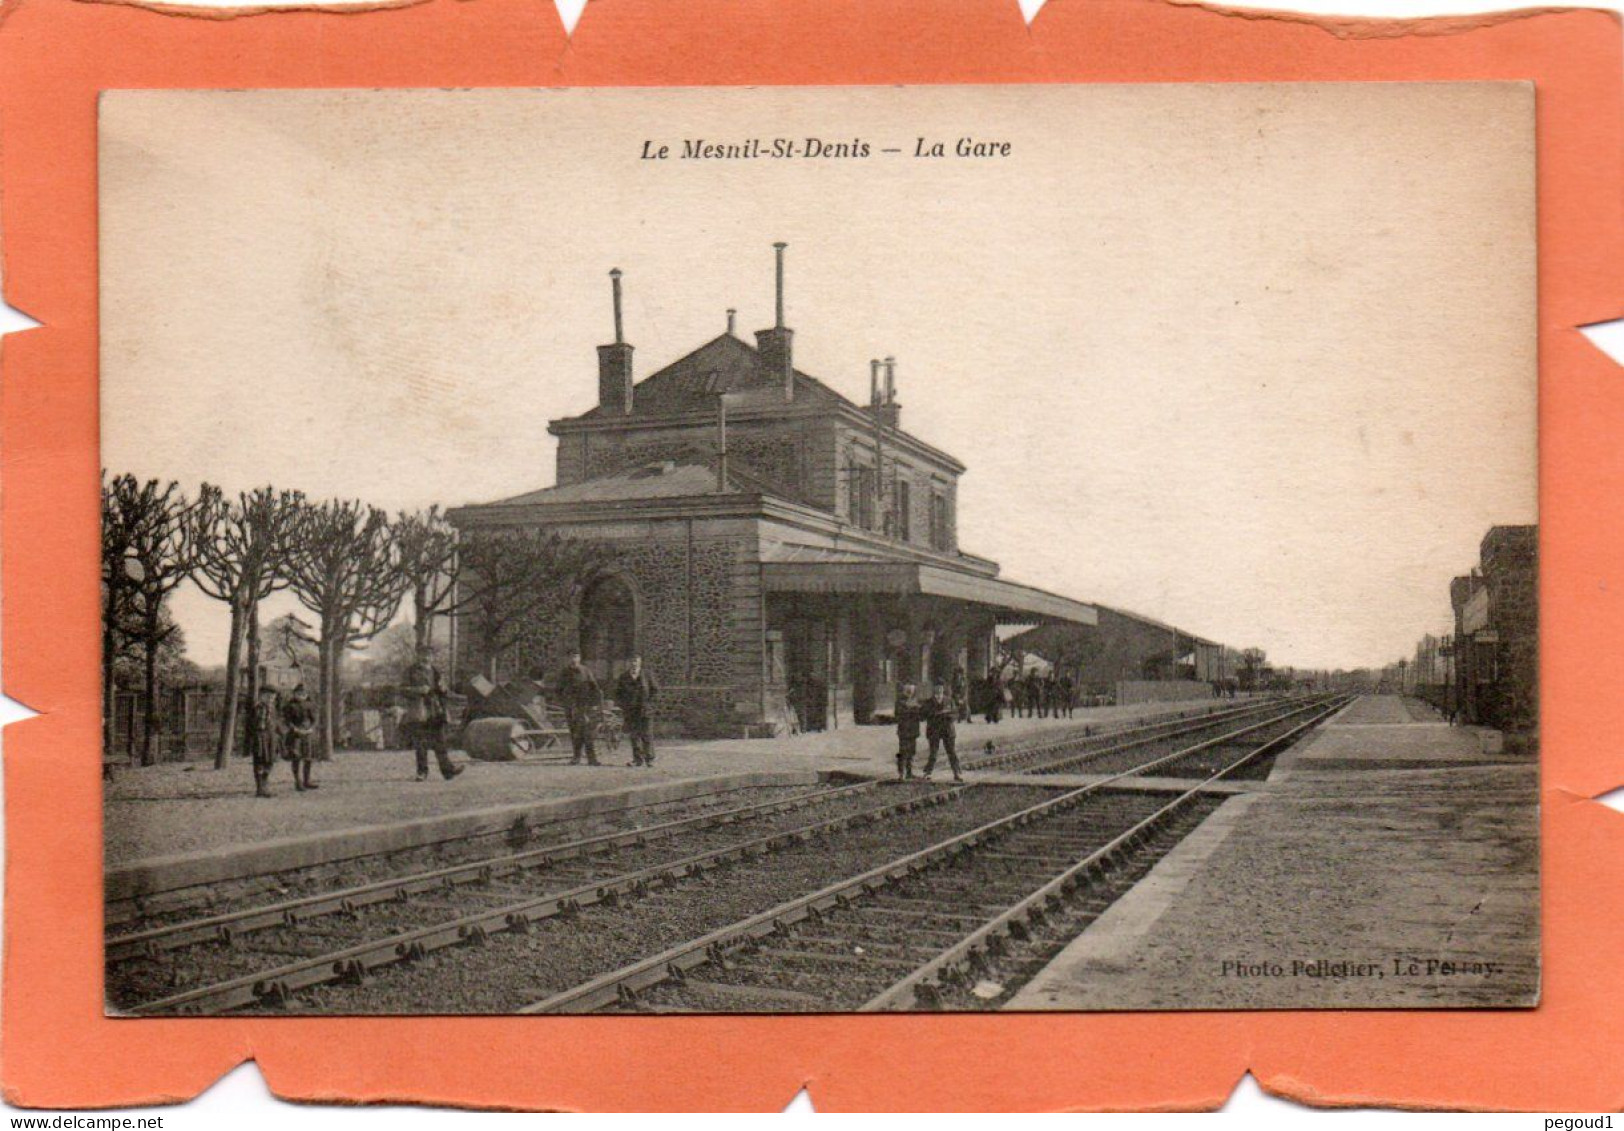
[[[1229,704],[1187,700],[1080,708],[1070,718],[1005,718],[997,725],[978,720],[960,725],[958,741],[970,754],[987,741],[1004,748],[1067,730],[1119,728],[1223,705]],[[922,752],[924,741],[919,748]],[[335,845],[351,835],[391,845],[406,835],[398,832],[403,829],[432,835],[435,829],[489,827],[529,808],[557,808],[575,798],[591,798],[575,808],[611,804],[614,796],[624,806],[739,785],[812,783],[820,774],[890,777],[895,752],[892,728],[851,726],[762,739],[671,739],[656,743],[651,769],[628,767],[625,744],[603,751],[601,767],[568,765],[567,749],[516,762],[469,762],[455,752],[453,760],[466,767],[464,774],[451,782],[442,782],[438,774],[416,782],[411,751],[344,751],[317,764],[315,780],[322,788],[313,793],[296,793],[289,770],[279,765],[271,778],[273,798],[253,796],[244,759],[232,759],[226,770],[214,770],[209,762],[120,770],[104,785],[109,892],[120,876],[184,868],[206,879],[224,868],[219,861],[227,856],[237,856],[240,868],[271,868],[274,861],[300,866],[312,853],[336,852]],[[1031,783],[1031,778],[1023,782]],[[560,811],[570,808],[564,804]]]

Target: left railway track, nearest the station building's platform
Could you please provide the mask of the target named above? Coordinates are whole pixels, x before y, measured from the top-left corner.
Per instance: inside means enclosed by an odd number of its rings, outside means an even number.
[[[958,793],[924,786],[898,798],[887,790],[893,800],[875,804],[875,788],[866,782],[809,795],[799,804],[744,806],[120,936],[107,944],[109,998],[138,1016],[274,1006],[296,990],[356,982],[445,946],[570,918],[594,904],[615,905],[788,843],[939,806]],[[809,806],[836,812],[812,822],[775,821],[797,817]],[[162,991],[154,994],[154,988]]]

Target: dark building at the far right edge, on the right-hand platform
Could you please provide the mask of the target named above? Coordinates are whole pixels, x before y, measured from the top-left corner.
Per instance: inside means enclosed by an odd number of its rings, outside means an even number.
[[[1450,582],[1455,702],[1465,723],[1538,726],[1538,526],[1492,526],[1478,569]]]

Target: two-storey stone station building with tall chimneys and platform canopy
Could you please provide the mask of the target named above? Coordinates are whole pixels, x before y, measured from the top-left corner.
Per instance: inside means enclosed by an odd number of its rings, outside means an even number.
[[[999,624],[1098,621],[960,549],[965,465],[903,429],[893,362],[872,364],[867,405],[796,367],[776,250],[775,325],[745,341],[729,312],[724,333],[641,380],[611,273],[598,403],[549,424],[555,484],[450,518],[464,536],[599,540],[614,564],[503,655],[455,632],[461,671],[551,674],[580,648],[607,678],[641,655],[671,730],[823,730],[888,712],[901,682],[984,676]]]

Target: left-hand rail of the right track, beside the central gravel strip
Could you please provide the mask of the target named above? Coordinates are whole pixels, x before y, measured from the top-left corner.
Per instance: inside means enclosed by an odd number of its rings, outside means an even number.
[[[1288,712],[1288,715],[1289,713],[1298,713],[1298,710]],[[1163,759],[1156,759],[1153,764],[1186,757],[1194,749],[1197,748],[1176,751]],[[666,951],[640,959],[638,962],[632,962],[619,970],[611,970],[609,973],[599,975],[568,990],[562,990],[549,998],[523,1006],[518,1012],[546,1014],[565,1009],[570,1012],[590,1012],[615,1004],[617,1001],[635,999],[640,990],[648,990],[650,986],[659,985],[666,980],[682,980],[687,977],[687,970],[719,959],[724,949],[731,944],[775,934],[793,923],[817,918],[828,908],[843,907],[853,899],[861,899],[880,887],[906,879],[908,876],[921,873],[942,860],[970,852],[989,838],[1000,837],[1034,821],[1065,812],[1067,809],[1080,804],[1085,798],[1108,788],[1112,782],[1135,777],[1143,770],[1145,767],[1122,770],[1121,774],[1101,778],[1099,782],[1067,790],[1060,796],[1039,801],[1038,804],[1028,806],[1026,809],[1012,812],[1005,817],[999,817],[997,821],[991,821],[984,826],[971,829],[970,832],[961,832],[935,845],[880,864],[879,868],[870,868],[866,873],[830,884],[828,887],[822,887],[809,895],[799,895],[786,900],[765,912],[737,920],[715,931],[708,931],[706,934],[689,939],[687,942],[680,942],[674,947],[667,947]]]

